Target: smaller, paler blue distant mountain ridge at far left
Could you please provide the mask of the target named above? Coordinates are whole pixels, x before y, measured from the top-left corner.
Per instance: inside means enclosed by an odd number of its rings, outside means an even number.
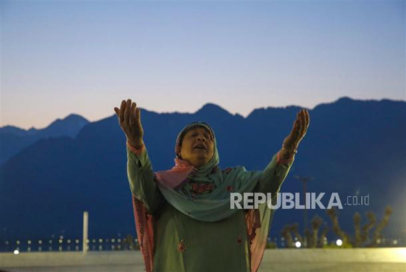
[[[57,119],[44,129],[23,130],[14,126],[0,128],[0,164],[16,155],[24,147],[47,137],[75,137],[89,121],[77,114]]]

